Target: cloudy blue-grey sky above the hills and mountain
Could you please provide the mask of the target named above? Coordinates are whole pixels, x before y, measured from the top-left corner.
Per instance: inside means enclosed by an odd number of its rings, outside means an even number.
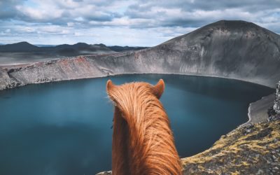
[[[280,34],[280,0],[0,0],[0,43],[154,46],[218,20]]]

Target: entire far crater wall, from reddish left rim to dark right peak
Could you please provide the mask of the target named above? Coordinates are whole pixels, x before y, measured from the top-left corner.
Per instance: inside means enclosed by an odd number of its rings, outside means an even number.
[[[218,21],[146,50],[2,68],[0,89],[122,73],[218,76],[274,87],[280,36],[251,22]]]

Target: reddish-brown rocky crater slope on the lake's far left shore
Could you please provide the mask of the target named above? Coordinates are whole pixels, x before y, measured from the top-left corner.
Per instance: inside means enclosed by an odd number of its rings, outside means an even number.
[[[31,83],[104,76],[99,67],[85,57],[0,67],[0,90]]]

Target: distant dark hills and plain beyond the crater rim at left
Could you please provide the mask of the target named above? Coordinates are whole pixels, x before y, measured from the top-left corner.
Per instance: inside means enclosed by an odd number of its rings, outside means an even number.
[[[19,64],[52,59],[63,59],[66,57],[76,57],[78,55],[102,55],[114,54],[118,52],[132,52],[145,47],[122,47],[106,46],[102,43],[87,44],[75,43],[62,45],[43,45],[42,47],[32,45],[26,41],[19,43],[0,45],[0,65]]]

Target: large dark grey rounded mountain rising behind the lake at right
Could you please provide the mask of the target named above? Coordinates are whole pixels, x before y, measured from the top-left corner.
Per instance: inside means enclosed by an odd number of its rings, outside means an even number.
[[[94,59],[94,64],[109,74],[180,73],[274,87],[280,78],[280,36],[251,22],[221,20],[153,48]]]

